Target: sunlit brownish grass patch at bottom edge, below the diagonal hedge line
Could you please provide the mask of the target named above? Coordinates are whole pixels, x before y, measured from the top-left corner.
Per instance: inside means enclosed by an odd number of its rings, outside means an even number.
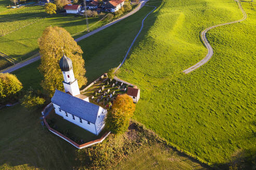
[[[162,144],[143,147],[120,162],[116,169],[207,169],[191,161],[184,154],[174,151]]]

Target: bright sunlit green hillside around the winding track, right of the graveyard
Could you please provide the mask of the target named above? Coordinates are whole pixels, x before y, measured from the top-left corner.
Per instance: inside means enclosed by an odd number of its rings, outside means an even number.
[[[163,1],[150,16],[156,22],[140,36],[119,74],[142,90],[136,120],[178,148],[219,166],[239,149],[250,154],[256,150],[256,22],[255,11],[243,5],[249,19],[210,31],[212,59],[184,75],[182,70],[207,53],[200,31],[238,20],[242,13],[228,0]]]

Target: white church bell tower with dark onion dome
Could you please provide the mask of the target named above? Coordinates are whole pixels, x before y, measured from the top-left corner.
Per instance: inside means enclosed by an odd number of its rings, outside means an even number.
[[[65,92],[70,92],[73,96],[80,94],[78,79],[74,78],[72,61],[64,53],[59,61],[59,67],[62,71]]]

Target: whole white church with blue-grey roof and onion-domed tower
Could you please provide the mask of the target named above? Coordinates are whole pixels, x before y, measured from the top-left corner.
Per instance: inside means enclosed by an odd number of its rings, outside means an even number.
[[[80,94],[78,80],[73,73],[72,61],[65,54],[59,61],[63,74],[65,92],[56,90],[52,103],[57,115],[86,131],[98,135],[105,126],[107,110],[89,103],[89,98]]]

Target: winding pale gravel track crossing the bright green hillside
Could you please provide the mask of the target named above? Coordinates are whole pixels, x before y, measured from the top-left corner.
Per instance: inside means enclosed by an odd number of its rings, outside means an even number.
[[[214,29],[217,26],[222,26],[222,25],[228,25],[228,24],[233,24],[233,23],[241,22],[241,21],[244,21],[247,18],[247,14],[246,14],[245,10],[242,8],[240,1],[239,0],[235,0],[235,1],[237,2],[237,4],[238,4],[240,10],[242,11],[244,17],[242,17],[242,19],[237,20],[237,21],[232,21],[232,22],[227,22],[227,23],[223,23],[223,24],[219,24],[219,25],[210,26],[207,29],[203,30],[201,32],[200,37],[201,37],[201,39],[203,41],[203,44],[206,46],[206,48],[208,50],[208,54],[206,55],[206,57],[204,59],[202,59],[201,61],[199,61],[195,65],[185,69],[183,71],[183,73],[188,74],[188,73],[194,71],[195,69],[197,69],[198,67],[202,66],[203,64],[207,63],[211,59],[211,57],[213,55],[213,49],[212,49],[211,45],[209,44],[209,42],[208,42],[208,40],[206,38],[206,33],[209,30]]]

